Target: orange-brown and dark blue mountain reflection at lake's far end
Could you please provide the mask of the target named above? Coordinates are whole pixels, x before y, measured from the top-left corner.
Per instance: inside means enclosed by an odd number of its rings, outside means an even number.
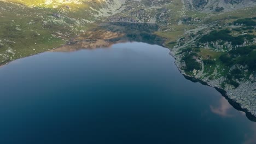
[[[113,44],[125,42],[143,42],[162,45],[164,38],[152,34],[158,30],[158,26],[148,23],[107,22],[79,35],[67,45],[63,45],[53,52],[72,52],[80,49],[95,49],[98,47],[110,47]]]

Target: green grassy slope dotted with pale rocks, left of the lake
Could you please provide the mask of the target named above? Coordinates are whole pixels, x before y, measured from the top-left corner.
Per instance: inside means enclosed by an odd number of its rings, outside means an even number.
[[[15,3],[0,1],[0,65],[65,44],[90,27],[86,20],[94,19],[87,4],[70,3],[67,9],[62,4],[58,8],[28,7],[39,1],[10,1]],[[20,2],[24,4],[16,4]]]

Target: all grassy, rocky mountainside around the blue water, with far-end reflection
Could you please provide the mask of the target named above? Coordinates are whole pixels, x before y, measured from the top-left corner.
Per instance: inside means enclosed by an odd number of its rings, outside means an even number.
[[[153,37],[184,75],[256,116],[255,10],[255,0],[0,0],[0,63]]]

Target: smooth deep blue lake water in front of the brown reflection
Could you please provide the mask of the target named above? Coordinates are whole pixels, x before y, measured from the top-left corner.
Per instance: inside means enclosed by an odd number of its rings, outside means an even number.
[[[256,143],[256,123],[145,43],[0,68],[0,143]]]

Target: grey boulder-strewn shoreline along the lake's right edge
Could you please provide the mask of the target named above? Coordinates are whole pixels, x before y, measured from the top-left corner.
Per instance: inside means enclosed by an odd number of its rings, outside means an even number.
[[[186,74],[182,69],[181,57],[176,54],[174,50],[170,50],[170,55],[176,60],[175,65],[186,79],[216,88],[236,110],[245,112],[249,120],[256,122],[256,93],[254,93],[256,82],[243,82],[237,88],[223,89],[218,80],[200,79],[197,76]]]

